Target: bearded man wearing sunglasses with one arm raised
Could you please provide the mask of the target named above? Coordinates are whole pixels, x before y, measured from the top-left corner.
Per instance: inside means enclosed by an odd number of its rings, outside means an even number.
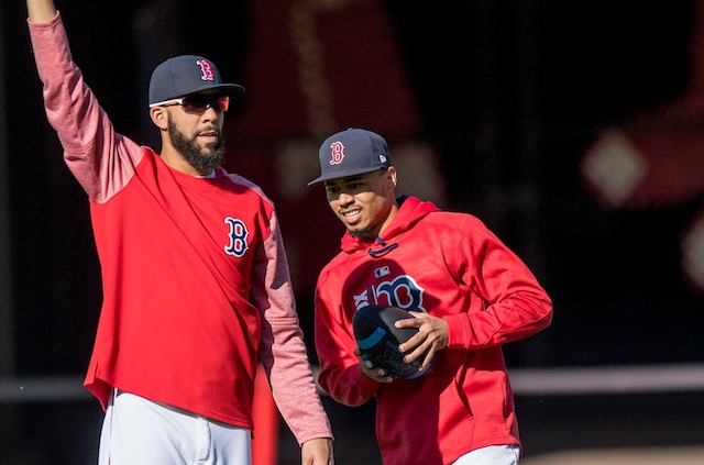
[[[244,88],[208,59],[156,67],[162,150],[117,133],[74,64],[53,0],[26,0],[50,123],[86,190],[102,309],[86,387],[106,410],[101,465],[250,465],[257,362],[301,445],[330,465],[272,202],[221,168],[222,124]]]

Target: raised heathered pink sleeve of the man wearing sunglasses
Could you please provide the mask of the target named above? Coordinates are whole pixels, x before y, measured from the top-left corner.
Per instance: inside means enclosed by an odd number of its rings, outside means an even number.
[[[45,24],[28,23],[48,122],[72,173],[90,199],[102,203],[128,184],[144,150],[114,132],[84,82],[59,13]]]

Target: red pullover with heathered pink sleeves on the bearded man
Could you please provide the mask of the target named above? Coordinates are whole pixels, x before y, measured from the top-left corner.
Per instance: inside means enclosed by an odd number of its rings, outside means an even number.
[[[86,386],[252,429],[257,356],[299,443],[332,438],[277,218],[246,179],[197,178],[114,132],[57,14],[30,23],[46,113],[90,199],[103,303]],[[274,361],[276,363],[274,363]]]

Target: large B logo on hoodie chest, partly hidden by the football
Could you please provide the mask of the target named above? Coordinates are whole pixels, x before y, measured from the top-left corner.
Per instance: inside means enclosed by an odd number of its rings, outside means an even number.
[[[424,311],[425,289],[408,275],[400,275],[392,280],[382,281],[354,295],[354,308],[369,305],[392,306],[404,310]]]

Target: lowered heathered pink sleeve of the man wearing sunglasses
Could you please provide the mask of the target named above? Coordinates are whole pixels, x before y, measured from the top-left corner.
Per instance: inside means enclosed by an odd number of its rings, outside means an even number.
[[[260,359],[274,400],[299,444],[311,439],[332,438],[298,322],[275,212],[272,213],[271,234],[261,253],[264,256],[255,262],[252,270],[257,276],[252,279],[252,301],[264,317]]]

